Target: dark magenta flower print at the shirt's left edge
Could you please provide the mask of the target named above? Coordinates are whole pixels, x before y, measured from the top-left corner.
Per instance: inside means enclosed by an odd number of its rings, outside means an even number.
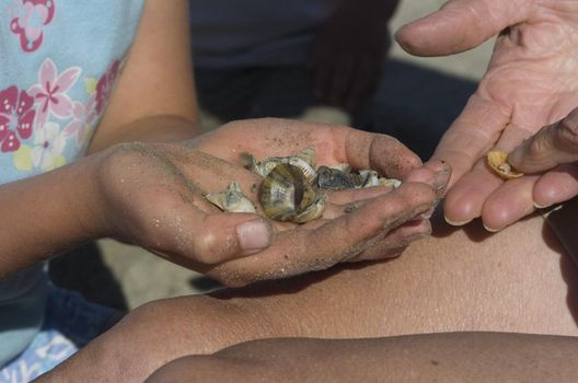
[[[26,91],[10,86],[0,91],[0,151],[19,150],[20,140],[32,136],[32,126],[36,112],[34,97]]]

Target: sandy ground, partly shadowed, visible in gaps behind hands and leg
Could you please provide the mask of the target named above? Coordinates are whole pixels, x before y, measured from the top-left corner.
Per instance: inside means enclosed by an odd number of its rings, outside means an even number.
[[[404,1],[392,21],[392,31],[430,11],[443,1]],[[398,46],[392,51],[394,61],[388,67],[384,81],[388,95],[382,107],[391,125],[403,124],[415,131],[426,131],[432,125],[447,127],[463,106],[475,82],[484,73],[493,42],[454,57],[416,58]],[[348,116],[330,107],[307,111],[308,120],[349,124]],[[205,115],[207,126],[219,124]],[[432,144],[430,142],[430,144]],[[89,299],[117,307],[135,307],[144,302],[190,293],[205,292],[218,287],[194,271],[169,264],[141,248],[112,240],[83,248],[83,256],[74,256],[70,265],[57,260],[56,278],[80,289]],[[103,265],[103,262],[104,265]],[[79,271],[79,267],[81,270]],[[72,268],[74,268],[72,270]]]

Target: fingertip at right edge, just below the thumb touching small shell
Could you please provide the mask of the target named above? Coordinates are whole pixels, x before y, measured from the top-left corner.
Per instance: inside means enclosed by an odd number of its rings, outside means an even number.
[[[578,195],[578,164],[564,164],[547,172],[534,185],[534,205],[547,208]]]

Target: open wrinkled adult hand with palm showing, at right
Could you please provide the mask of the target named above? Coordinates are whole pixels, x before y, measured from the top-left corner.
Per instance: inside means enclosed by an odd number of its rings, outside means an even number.
[[[447,220],[464,224],[482,217],[492,231],[531,213],[534,204],[559,200],[556,193],[540,192],[544,186],[536,185],[537,176],[504,182],[488,170],[484,156],[493,148],[510,152],[578,105],[578,3],[451,0],[396,35],[409,53],[438,56],[471,49],[500,31],[477,91],[434,155],[453,167]],[[552,188],[560,188],[570,176],[563,167],[546,179]]]

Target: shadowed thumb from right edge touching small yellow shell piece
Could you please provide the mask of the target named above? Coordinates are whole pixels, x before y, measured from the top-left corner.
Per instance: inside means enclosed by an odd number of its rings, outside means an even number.
[[[540,129],[508,155],[508,162],[524,173],[547,171],[575,161],[578,161],[578,108]]]

